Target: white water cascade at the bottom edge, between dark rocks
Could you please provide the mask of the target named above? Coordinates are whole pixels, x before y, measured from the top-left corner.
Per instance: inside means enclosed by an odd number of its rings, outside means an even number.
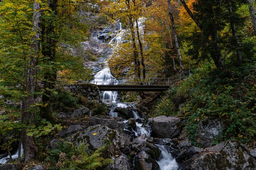
[[[178,164],[173,156],[164,148],[164,146],[156,145],[161,151],[160,160],[157,161],[160,170],[177,170]]]

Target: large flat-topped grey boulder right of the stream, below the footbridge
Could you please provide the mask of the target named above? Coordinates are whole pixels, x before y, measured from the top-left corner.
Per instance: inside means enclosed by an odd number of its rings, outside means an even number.
[[[180,132],[182,125],[181,119],[178,117],[166,117],[164,115],[153,117],[152,121],[152,132],[156,137],[159,138],[173,138]]]

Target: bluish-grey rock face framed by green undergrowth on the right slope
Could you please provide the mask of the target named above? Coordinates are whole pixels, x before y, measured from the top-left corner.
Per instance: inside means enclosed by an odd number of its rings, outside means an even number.
[[[202,148],[211,147],[211,143],[214,138],[218,137],[222,133],[223,122],[217,119],[204,119],[199,122],[197,128],[198,144]]]

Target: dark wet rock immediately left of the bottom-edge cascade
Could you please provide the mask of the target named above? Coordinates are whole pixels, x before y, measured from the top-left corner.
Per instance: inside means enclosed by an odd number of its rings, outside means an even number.
[[[159,170],[159,165],[157,161],[155,161],[155,159],[153,159],[151,155],[152,150],[150,150],[150,148],[141,149],[135,159],[136,170]]]

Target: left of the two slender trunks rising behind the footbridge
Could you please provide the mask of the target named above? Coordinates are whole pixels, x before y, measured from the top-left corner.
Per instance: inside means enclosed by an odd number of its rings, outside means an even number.
[[[132,53],[133,53],[133,60],[135,65],[135,73],[137,73],[137,77],[140,78],[140,62],[139,62],[139,53],[137,51],[136,42],[135,42],[135,32],[134,32],[134,26],[133,26],[133,20],[132,18],[129,18],[130,22],[130,31],[131,31],[131,37],[132,37]]]

